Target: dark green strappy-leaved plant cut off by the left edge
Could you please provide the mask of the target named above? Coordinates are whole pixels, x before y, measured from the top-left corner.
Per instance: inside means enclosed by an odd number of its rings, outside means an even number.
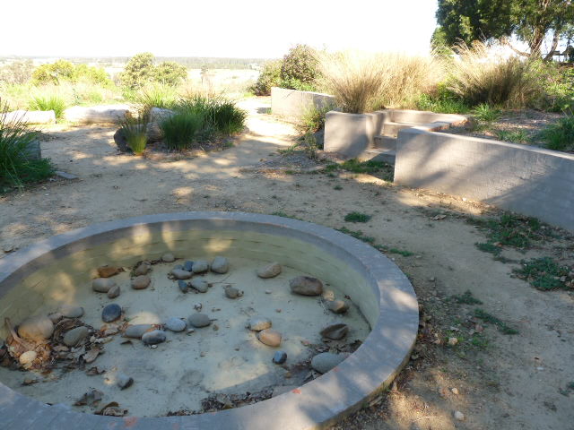
[[[7,116],[10,111],[0,100],[0,190],[38,182],[54,174],[48,159],[31,159],[30,144],[38,140],[39,132],[22,122],[22,118]]]

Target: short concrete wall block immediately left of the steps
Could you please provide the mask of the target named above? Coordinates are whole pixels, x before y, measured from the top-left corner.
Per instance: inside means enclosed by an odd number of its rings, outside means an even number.
[[[377,114],[345,114],[327,112],[325,119],[325,150],[346,157],[359,157],[375,145]]]

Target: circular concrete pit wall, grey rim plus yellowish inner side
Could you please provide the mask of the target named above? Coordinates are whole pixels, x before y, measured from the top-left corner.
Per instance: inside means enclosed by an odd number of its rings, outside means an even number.
[[[0,316],[21,322],[40,308],[67,303],[79,293],[76,288],[84,288],[94,278],[96,267],[109,262],[130,267],[168,252],[184,257],[225,255],[231,265],[234,259],[246,258],[280,262],[287,271],[312,274],[351,297],[370,333],[342,363],[308,383],[252,405],[198,415],[101,417],[33,400],[0,383],[0,428],[268,430],[326,426],[387,387],[413,347],[418,305],[413,287],[395,263],[333,229],[249,213],[185,212],[123,219],[31,245],[0,260]],[[267,301],[275,297],[269,295]],[[3,328],[2,338],[7,335]]]

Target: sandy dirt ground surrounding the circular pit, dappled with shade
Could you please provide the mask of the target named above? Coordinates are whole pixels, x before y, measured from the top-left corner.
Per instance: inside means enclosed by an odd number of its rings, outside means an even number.
[[[245,172],[242,168],[270,154],[277,157],[276,151],[292,142],[291,125],[266,116],[265,103],[244,102],[249,132],[233,148],[173,162],[119,155],[114,128],[53,127],[43,153],[79,179],[57,179],[0,198],[0,245],[23,247],[95,222],[171,211],[283,212],[332,228],[360,229],[379,245],[413,253],[388,256],[416,289],[421,334],[392,389],[334,428],[574,429],[574,384],[569,388],[574,297],[568,291],[541,292],[510,276],[521,258],[571,258],[571,238],[526,254],[505,250],[513,262],[494,261],[476,248],[485,238],[465,220],[491,211],[479,203],[404,189],[369,175]],[[372,219],[345,222],[351,211]],[[466,290],[483,304],[448,300]],[[478,327],[475,307],[519,334],[503,335],[494,324]],[[469,324],[483,329],[477,345],[470,342]],[[445,345],[453,335],[459,343]],[[455,411],[464,420],[454,417]]]

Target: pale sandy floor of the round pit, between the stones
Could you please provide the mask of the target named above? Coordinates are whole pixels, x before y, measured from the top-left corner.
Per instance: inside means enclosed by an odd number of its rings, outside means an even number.
[[[199,260],[201,256],[190,255],[189,258]],[[211,326],[189,334],[166,330],[168,339],[157,348],[145,346],[141,340],[122,344],[126,338],[120,334],[112,336],[104,344],[105,353],[85,367],[87,370],[98,366],[106,370],[104,374],[88,376],[78,369],[67,372],[61,365],[46,377],[0,368],[0,381],[37,400],[70,406],[84,392],[96,389],[104,394],[97,407],[74,409],[93,412],[110,401],[117,401],[130,416],[161,417],[170,411],[200,410],[201,400],[214,393],[243,394],[267,387],[300,385],[309,374],[309,367],[298,367],[297,371],[291,372],[288,369],[309,359],[312,351],[305,344],[320,344],[319,331],[327,325],[348,324],[350,330],[344,340],[348,343],[364,340],[369,334],[369,325],[355,305],[342,316],[326,310],[319,297],[291,294],[289,280],[312,274],[283,267],[276,278],[262,280],[257,278],[255,270],[265,265],[264,262],[233,258],[226,274],[196,275],[213,283],[206,293],[184,294],[177,281],[169,280],[167,276],[177,263],[153,265],[152,284],[143,290],[130,287],[129,272],[119,273],[113,277],[122,291],[116,299],[93,292],[91,285],[83,286],[74,302],[84,308],[81,319],[99,329],[103,324],[101,310],[113,302],[122,306],[130,324],[160,324],[169,317],[187,318],[196,312],[194,305],[201,303],[202,313],[214,320]],[[226,284],[244,291],[243,297],[225,297],[223,285]],[[341,287],[344,286],[326,285],[335,291],[337,298],[344,298]],[[49,314],[55,310],[43,308],[36,314]],[[264,345],[257,340],[255,331],[246,328],[249,318],[255,315],[268,317],[273,329],[282,333],[280,348]],[[287,353],[284,366],[272,362],[277,350]],[[288,372],[291,376],[285,377]],[[135,383],[120,390],[116,385],[120,373],[131,376]],[[22,382],[30,378],[40,382],[22,386]]]

